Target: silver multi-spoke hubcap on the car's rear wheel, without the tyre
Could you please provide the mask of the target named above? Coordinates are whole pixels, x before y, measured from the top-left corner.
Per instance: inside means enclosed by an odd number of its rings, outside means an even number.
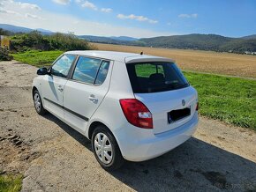
[[[98,133],[94,137],[94,150],[98,158],[104,164],[109,164],[113,158],[112,145],[104,133]]]

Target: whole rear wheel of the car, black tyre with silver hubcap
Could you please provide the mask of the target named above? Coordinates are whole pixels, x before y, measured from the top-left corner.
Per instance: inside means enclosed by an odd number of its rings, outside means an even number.
[[[94,129],[91,143],[95,158],[105,170],[113,171],[124,164],[117,141],[105,126]],[[105,150],[102,151],[103,148]]]

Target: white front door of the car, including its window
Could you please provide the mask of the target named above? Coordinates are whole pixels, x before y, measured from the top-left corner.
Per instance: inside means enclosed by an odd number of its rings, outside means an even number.
[[[64,118],[64,86],[75,58],[75,55],[62,55],[50,68],[50,75],[44,76],[41,82],[43,106],[60,119]]]

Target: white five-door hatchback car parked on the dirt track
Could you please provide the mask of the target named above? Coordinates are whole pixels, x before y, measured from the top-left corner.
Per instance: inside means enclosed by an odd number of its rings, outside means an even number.
[[[69,51],[37,74],[37,113],[47,110],[90,139],[107,170],[170,151],[199,121],[198,94],[169,58]]]

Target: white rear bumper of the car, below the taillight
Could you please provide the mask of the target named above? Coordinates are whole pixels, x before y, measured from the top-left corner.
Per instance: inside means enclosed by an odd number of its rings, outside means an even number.
[[[116,138],[121,138],[117,140],[117,143],[124,159],[143,161],[161,156],[183,144],[192,137],[192,134],[197,129],[198,122],[198,113],[195,113],[189,122],[160,134],[154,135],[152,129],[139,129],[132,126],[119,129],[115,135],[118,135]],[[133,131],[132,134],[131,130]]]

